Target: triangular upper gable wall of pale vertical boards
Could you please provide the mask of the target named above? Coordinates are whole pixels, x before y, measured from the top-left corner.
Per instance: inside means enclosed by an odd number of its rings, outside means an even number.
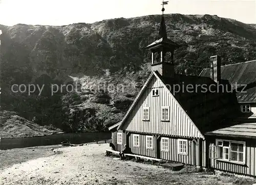
[[[159,96],[152,96],[153,88],[159,88]],[[161,121],[161,107],[163,106],[169,107],[170,121]],[[150,121],[142,120],[143,107],[150,107]],[[204,138],[174,96],[156,76],[150,80],[120,129],[131,132]]]

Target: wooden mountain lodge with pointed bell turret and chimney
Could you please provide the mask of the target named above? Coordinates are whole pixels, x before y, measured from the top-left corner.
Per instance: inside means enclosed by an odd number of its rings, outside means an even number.
[[[167,38],[164,15],[159,38],[146,48],[152,73],[109,128],[115,149],[128,145],[136,155],[256,176],[256,60],[221,66],[212,56],[199,76],[175,74],[179,45]],[[231,92],[236,82],[249,84],[248,93]],[[174,88],[188,86],[194,89]]]

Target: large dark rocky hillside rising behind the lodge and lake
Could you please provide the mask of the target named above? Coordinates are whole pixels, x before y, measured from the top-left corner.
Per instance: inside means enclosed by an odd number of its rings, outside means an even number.
[[[216,54],[223,65],[256,58],[255,25],[215,15],[165,17],[168,37],[181,45],[175,53],[177,73],[198,75]],[[144,47],[157,38],[160,18],[0,25],[1,108],[72,132],[104,130],[120,121],[150,73]],[[71,92],[75,83],[78,89]],[[13,93],[13,84],[45,86],[38,96],[38,88],[30,95]],[[51,84],[66,86],[52,95]]]

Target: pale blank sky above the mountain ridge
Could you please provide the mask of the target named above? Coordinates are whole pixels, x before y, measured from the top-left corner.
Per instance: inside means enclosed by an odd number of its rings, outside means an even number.
[[[161,14],[161,0],[0,0],[0,24],[68,25]],[[165,13],[210,14],[256,24],[256,0],[169,0]]]

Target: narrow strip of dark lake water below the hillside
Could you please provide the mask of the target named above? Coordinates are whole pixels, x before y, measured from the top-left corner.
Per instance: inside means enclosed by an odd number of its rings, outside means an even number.
[[[0,140],[0,149],[59,145],[60,142],[65,141],[66,139],[72,144],[81,144],[94,142],[94,140],[99,139],[111,139],[111,133],[63,133],[40,137],[2,138]]]

